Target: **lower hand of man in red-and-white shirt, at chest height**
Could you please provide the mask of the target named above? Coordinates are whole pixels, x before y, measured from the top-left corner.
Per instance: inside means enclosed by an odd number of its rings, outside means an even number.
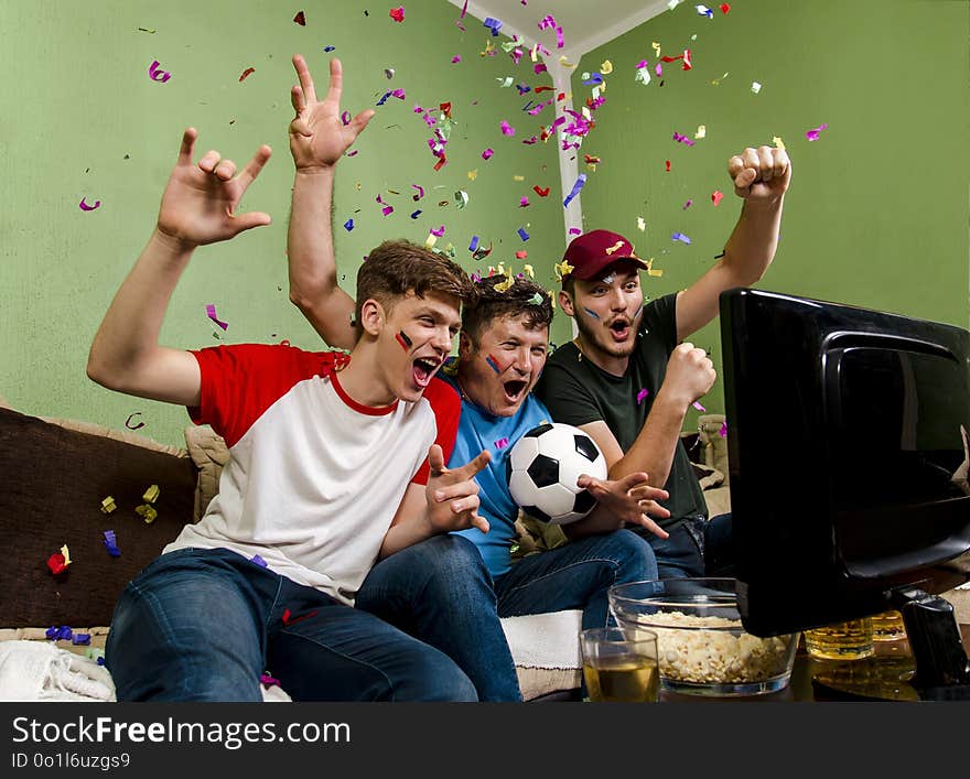
[[[483,451],[460,468],[448,468],[441,446],[432,444],[428,451],[431,474],[424,495],[428,499],[428,520],[435,531],[478,528],[488,532],[488,520],[478,515],[478,484],[475,474],[482,470],[492,455]]]

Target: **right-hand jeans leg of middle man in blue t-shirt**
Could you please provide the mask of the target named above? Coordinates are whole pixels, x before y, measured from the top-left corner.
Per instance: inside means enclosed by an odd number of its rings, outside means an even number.
[[[614,584],[657,577],[654,551],[629,530],[588,535],[529,554],[495,581],[498,614],[515,617],[578,608],[583,629],[614,625],[606,593]]]

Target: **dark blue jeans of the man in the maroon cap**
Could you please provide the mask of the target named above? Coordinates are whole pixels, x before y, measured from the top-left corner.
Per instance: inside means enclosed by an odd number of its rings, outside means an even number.
[[[730,513],[709,520],[686,517],[669,538],[647,538],[657,555],[660,578],[734,575]]]

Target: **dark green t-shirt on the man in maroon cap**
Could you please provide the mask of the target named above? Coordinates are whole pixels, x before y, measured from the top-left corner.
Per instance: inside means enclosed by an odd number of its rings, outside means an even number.
[[[556,349],[536,386],[536,394],[549,409],[552,419],[578,428],[602,420],[623,451],[628,452],[644,426],[664,382],[667,360],[677,346],[676,306],[677,293],[658,297],[644,306],[637,348],[630,355],[626,374],[621,377],[583,359],[572,342]],[[647,390],[647,394],[638,401],[637,396],[643,390]],[[670,518],[655,521],[665,530],[671,530],[685,517],[707,518],[703,491],[680,441],[664,488],[670,493],[670,499],[664,502],[670,510]]]

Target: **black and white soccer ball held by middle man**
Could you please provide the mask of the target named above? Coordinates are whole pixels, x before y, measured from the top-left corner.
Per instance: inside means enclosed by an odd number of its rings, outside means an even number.
[[[596,499],[576,487],[581,474],[606,478],[606,458],[579,428],[540,424],[519,439],[506,462],[508,490],[526,513],[551,524],[585,517]]]

